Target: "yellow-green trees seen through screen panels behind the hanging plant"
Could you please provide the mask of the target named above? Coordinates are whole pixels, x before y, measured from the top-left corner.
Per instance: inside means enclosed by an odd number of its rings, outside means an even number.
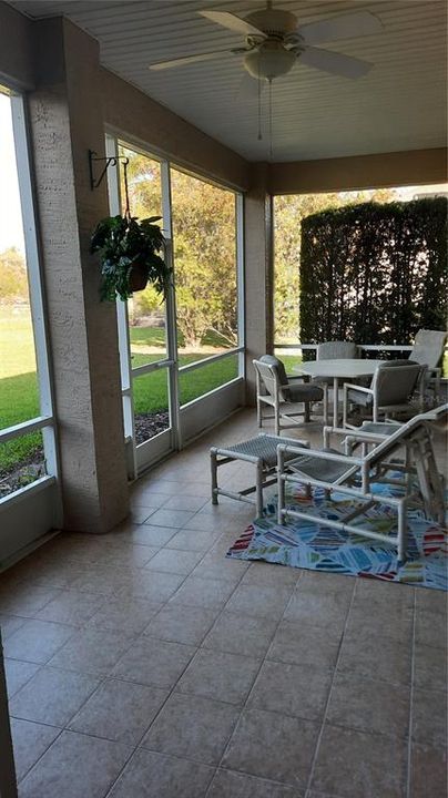
[[[161,213],[159,162],[123,150],[132,215]],[[177,326],[185,346],[207,334],[234,346],[236,334],[235,195],[179,170],[171,170]],[[124,196],[124,193],[123,193]],[[154,297],[134,298],[134,316],[155,309]]]

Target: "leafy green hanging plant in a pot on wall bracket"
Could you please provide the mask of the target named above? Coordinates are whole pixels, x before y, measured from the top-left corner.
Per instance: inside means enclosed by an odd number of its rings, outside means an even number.
[[[141,219],[131,216],[129,206],[126,163],[124,163],[124,188],[126,207],[124,216],[108,216],[96,225],[90,252],[101,253],[101,300],[129,299],[147,283],[159,294],[166,296],[172,269],[165,263],[165,237],[155,222],[161,216]]]

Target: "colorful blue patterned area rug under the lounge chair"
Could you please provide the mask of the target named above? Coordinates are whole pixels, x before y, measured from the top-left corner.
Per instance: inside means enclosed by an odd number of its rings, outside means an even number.
[[[375,492],[396,492],[388,485],[375,485]],[[287,494],[289,508],[309,507],[313,515],[338,519],[355,507],[353,499],[334,493],[329,501],[316,489],[307,499],[299,489]],[[408,512],[408,560],[397,569],[397,551],[387,544],[396,532],[396,513],[385,504],[376,504],[362,520],[367,529],[381,532],[385,542],[371,541],[337,529],[289,519],[287,525],[276,522],[276,499],[265,508],[265,516],[256,519],[227,552],[233,560],[264,560],[281,565],[327,571],[347,576],[366,576],[387,582],[400,582],[435,590],[448,590],[447,530],[425,519],[420,510]]]

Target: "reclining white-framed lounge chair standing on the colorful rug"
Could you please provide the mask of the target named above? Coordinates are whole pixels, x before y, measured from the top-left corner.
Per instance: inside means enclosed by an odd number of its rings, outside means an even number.
[[[278,480],[278,523],[297,518],[324,526],[333,526],[371,540],[387,542],[397,548],[398,562],[406,560],[407,553],[407,511],[411,507],[422,507],[425,514],[437,523],[444,523],[444,480],[438,473],[432,448],[432,429],[446,427],[448,405],[436,410],[415,416],[385,438],[365,457],[348,457],[335,450],[314,451],[289,444],[277,447]],[[343,430],[342,430],[343,431]],[[404,462],[391,462],[391,458],[406,450]],[[296,459],[286,461],[292,453]],[[393,472],[393,473],[390,473]],[[396,477],[398,472],[400,477]],[[401,495],[374,493],[374,482],[389,483],[403,488]],[[342,520],[325,519],[309,513],[306,509],[294,510],[286,505],[286,484],[303,484],[308,494],[315,487],[324,488],[329,499],[334,492],[359,500],[352,505]],[[354,524],[369,508],[383,504],[397,511],[397,534],[385,538],[380,532]]]

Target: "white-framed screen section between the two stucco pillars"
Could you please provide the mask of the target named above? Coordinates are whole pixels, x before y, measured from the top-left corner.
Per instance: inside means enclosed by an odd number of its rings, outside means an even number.
[[[118,304],[124,433],[135,478],[244,402],[243,196],[111,135],[106,147],[118,155],[119,172],[109,180],[113,213],[124,207],[128,162],[131,212],[161,217],[173,268],[164,301],[150,285],[128,306]]]

